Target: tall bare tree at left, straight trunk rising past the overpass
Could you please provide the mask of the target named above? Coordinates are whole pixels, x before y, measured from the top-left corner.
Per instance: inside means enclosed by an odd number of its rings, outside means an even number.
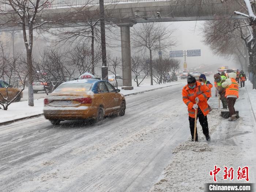
[[[0,14],[7,18],[1,27],[5,27],[5,25],[20,26],[23,31],[23,39],[26,47],[27,69],[29,73],[29,106],[34,106],[32,63],[33,31],[42,27],[45,23],[52,22],[44,21],[41,18],[44,5],[47,2],[48,0],[0,0]]]

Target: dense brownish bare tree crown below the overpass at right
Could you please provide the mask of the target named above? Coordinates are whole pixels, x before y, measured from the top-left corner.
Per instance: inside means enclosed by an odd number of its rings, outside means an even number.
[[[240,61],[241,69],[248,66],[248,51],[245,40],[250,37],[247,28],[234,28],[242,20],[212,20],[203,24],[203,42],[209,45],[214,54],[231,57]]]

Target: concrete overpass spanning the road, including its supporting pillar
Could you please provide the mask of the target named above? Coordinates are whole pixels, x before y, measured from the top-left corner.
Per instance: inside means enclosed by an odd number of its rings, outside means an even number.
[[[245,12],[243,0],[106,0],[106,23],[117,24],[121,28],[121,49],[123,60],[124,85],[131,87],[131,49],[130,27],[136,23],[145,22],[174,22],[191,20],[214,19],[244,19],[234,15],[234,11]],[[65,3],[64,3],[65,2]],[[5,7],[8,9],[8,6]],[[3,8],[1,8],[3,10]],[[1,27],[12,15],[1,13],[0,31],[21,30],[19,26],[13,28],[12,24]],[[87,19],[99,19],[99,5],[97,0],[55,0],[37,17],[38,23],[44,28],[81,26]]]

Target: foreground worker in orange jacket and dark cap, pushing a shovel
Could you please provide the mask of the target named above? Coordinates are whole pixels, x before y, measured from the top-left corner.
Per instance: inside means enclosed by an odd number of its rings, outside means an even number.
[[[207,141],[210,141],[207,114],[210,112],[208,108],[207,98],[210,97],[210,89],[203,82],[196,81],[195,77],[188,75],[188,84],[182,89],[182,99],[188,106],[189,128],[193,141],[194,125],[195,125],[195,110],[197,110],[197,118],[203,128],[203,134]],[[197,104],[196,104],[197,103]],[[196,129],[197,130],[197,129]],[[196,141],[198,136],[196,133]]]

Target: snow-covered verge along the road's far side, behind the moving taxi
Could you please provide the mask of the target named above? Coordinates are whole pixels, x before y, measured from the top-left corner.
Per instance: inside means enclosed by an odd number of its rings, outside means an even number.
[[[175,81],[175,82],[169,82],[165,84],[156,84],[154,82],[154,85],[150,85],[148,83],[141,84],[140,87],[133,87],[133,90],[123,90],[121,87],[120,93],[123,93],[125,96],[143,93],[146,91],[153,91],[154,89],[160,89],[164,87],[170,87],[173,85],[179,85],[179,84],[185,84],[185,81]],[[0,124],[3,124],[5,122],[9,121],[15,121],[17,119],[21,118],[30,118],[31,116],[39,115],[43,113],[43,107],[44,107],[44,98],[41,99],[35,99],[34,100],[34,107],[28,106],[28,101],[20,101],[17,103],[12,103],[7,111],[3,111],[0,109]]]

